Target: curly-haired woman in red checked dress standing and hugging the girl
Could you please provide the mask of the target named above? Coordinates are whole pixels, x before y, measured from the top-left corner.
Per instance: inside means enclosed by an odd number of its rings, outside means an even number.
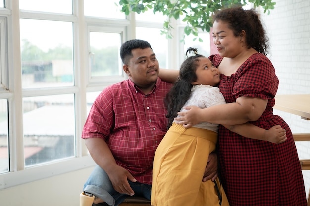
[[[230,8],[219,11],[213,21],[213,41],[219,54],[209,58],[221,73],[219,88],[227,104],[185,107],[187,111],[178,113],[175,120],[186,128],[202,121],[222,125],[249,121],[264,129],[281,125],[287,137],[282,144],[244,138],[220,126],[223,187],[230,206],[306,206],[292,132],[272,113],[278,78],[265,56],[268,39],[259,15],[254,9]]]

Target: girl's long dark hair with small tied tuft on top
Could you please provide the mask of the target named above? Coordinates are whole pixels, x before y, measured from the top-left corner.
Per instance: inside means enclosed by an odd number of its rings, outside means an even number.
[[[193,52],[194,56],[189,56],[188,53]],[[197,49],[188,48],[186,51],[187,59],[182,63],[178,81],[173,85],[165,98],[165,104],[168,110],[166,117],[168,118],[168,129],[172,125],[173,119],[181,110],[183,105],[191,96],[192,82],[197,80],[196,69],[197,62],[203,55],[197,54]]]

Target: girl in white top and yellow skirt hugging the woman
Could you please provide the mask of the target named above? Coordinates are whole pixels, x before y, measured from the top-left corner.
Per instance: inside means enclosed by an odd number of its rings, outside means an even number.
[[[225,192],[217,178],[202,182],[208,155],[215,150],[218,124],[200,122],[185,128],[173,123],[177,112],[187,105],[206,108],[225,104],[223,95],[215,87],[219,71],[197,50],[181,65],[178,81],[166,96],[169,130],[159,144],[153,163],[151,205],[153,206],[229,206]],[[228,127],[243,136],[282,143],[285,130],[274,126],[270,130],[252,124]],[[255,134],[255,135],[254,135]],[[268,139],[266,139],[268,137]]]

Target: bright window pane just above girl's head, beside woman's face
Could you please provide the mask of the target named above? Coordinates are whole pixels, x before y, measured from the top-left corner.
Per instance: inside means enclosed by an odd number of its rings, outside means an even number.
[[[196,38],[196,40],[194,40]],[[203,42],[199,42],[198,38],[201,38]],[[184,58],[186,50],[189,48],[197,48],[198,53],[202,54],[206,57],[209,57],[211,54],[211,48],[210,48],[210,34],[209,33],[198,33],[198,37],[190,34],[189,36],[185,35],[184,38]]]

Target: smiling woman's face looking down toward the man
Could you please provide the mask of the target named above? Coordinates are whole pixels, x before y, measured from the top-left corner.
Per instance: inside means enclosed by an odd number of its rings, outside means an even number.
[[[234,58],[242,51],[243,33],[235,36],[233,30],[223,21],[214,21],[213,23],[213,43],[222,57]]]

